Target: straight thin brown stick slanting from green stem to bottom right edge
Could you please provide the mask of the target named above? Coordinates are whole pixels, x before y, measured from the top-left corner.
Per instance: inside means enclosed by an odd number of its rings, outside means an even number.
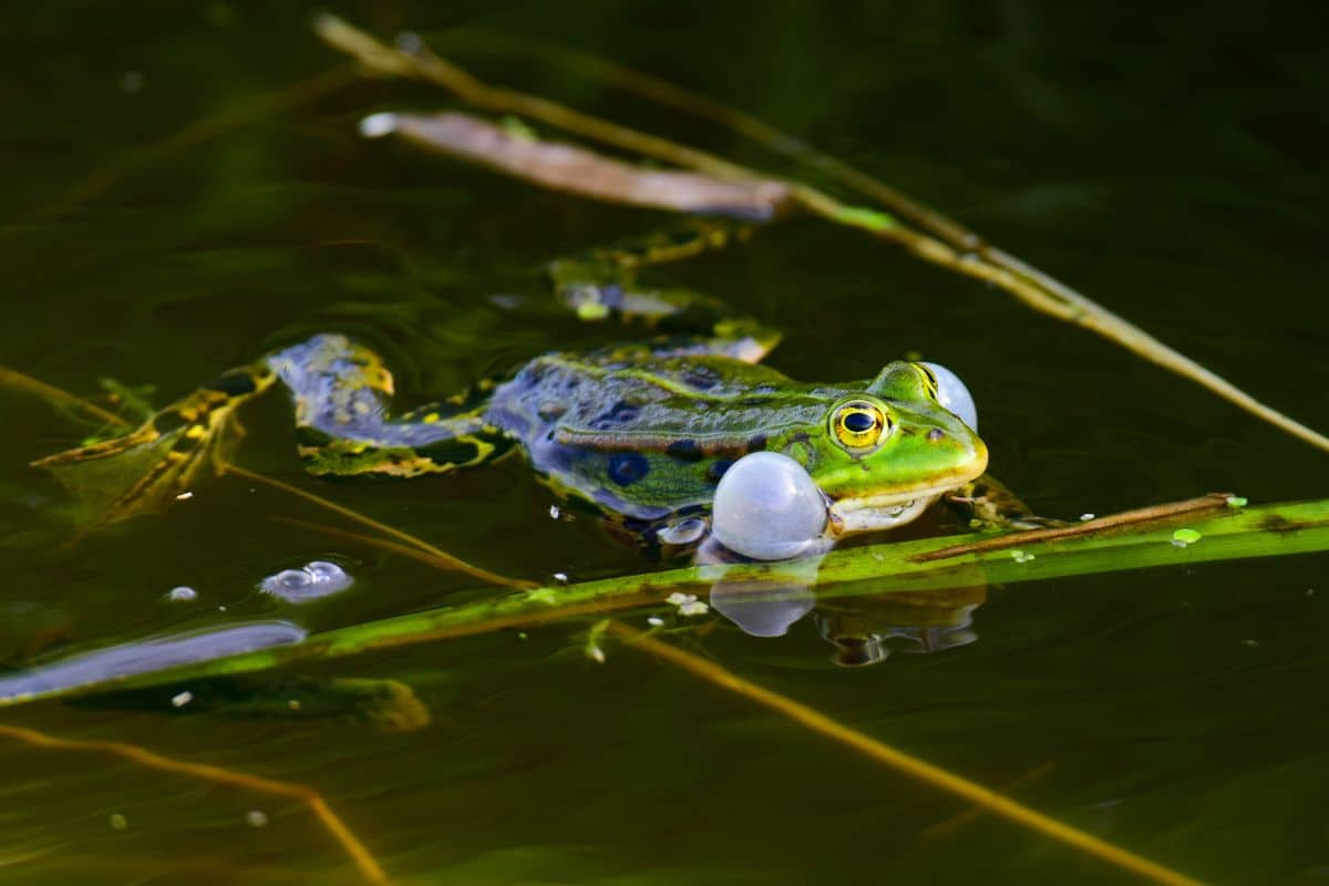
[[[1088,853],[1090,855],[1108,865],[1115,865],[1116,867],[1135,874],[1136,877],[1142,877],[1155,883],[1167,883],[1168,886],[1197,886],[1200,882],[1130,850],[1122,849],[1120,846],[1114,846],[1112,843],[1099,840],[1098,837],[1079,830],[1078,828],[1071,828],[1070,825],[1045,816],[1041,812],[1035,812],[1029,806],[1010,800],[1009,797],[1003,797],[995,790],[983,788],[982,785],[948,772],[941,766],[920,760],[918,757],[908,754],[902,751],[897,751],[890,745],[877,741],[869,735],[832,720],[815,708],[809,708],[808,705],[795,701],[793,699],[744,680],[743,677],[712,662],[692,655],[691,652],[686,652],[675,646],[670,646],[668,643],[662,643],[661,640],[647,636],[635,628],[627,627],[622,622],[611,622],[609,624],[609,632],[645,652],[650,652],[651,655],[668,662],[688,673],[692,673],[694,676],[702,677],[712,685],[734,692],[735,695],[740,695],[750,701],[755,701],[764,708],[775,711],[776,713],[793,720],[799,725],[811,729],[823,737],[831,739],[832,741],[843,744],[847,748],[857,751],[859,753],[877,762],[885,764],[902,774],[922,781],[933,788],[937,788],[938,790],[960,797],[986,812],[993,813],[994,816],[999,816],[1006,821],[1037,832],[1043,837]]]

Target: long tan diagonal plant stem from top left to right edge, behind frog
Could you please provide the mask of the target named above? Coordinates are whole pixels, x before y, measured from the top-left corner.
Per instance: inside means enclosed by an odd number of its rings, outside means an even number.
[[[354,56],[372,73],[431,82],[448,89],[461,101],[477,108],[497,113],[521,114],[585,138],[676,166],[695,169],[718,178],[779,181],[777,177],[759,174],[708,151],[622,126],[593,114],[566,108],[540,96],[492,86],[452,62],[440,58],[428,49],[415,48],[411,52],[396,49],[332,15],[318,16],[314,29],[326,43]],[[659,92],[657,88],[655,94],[659,94]],[[675,100],[678,98],[678,92],[674,93]],[[718,108],[723,109],[723,106],[711,105],[710,116],[712,118],[734,120],[727,113],[727,109],[718,112]],[[766,124],[754,126],[755,118],[744,117],[743,120],[744,122],[736,128],[758,137],[763,143],[769,142],[780,146],[799,145],[801,147],[801,142],[785,137]],[[807,158],[803,153],[793,149],[784,147],[783,150],[800,159]],[[811,155],[813,158],[819,157],[816,153]],[[825,161],[821,165],[825,166]],[[902,218],[914,221],[920,227],[932,231],[936,236],[913,230],[885,213],[845,205],[825,191],[804,182],[785,182],[792,199],[808,213],[820,215],[833,223],[857,227],[881,239],[896,242],[925,262],[991,283],[1037,311],[1096,332],[1136,356],[1191,379],[1251,414],[1318,449],[1329,452],[1329,437],[1325,434],[1256,400],[1227,379],[1171,348],[1124,317],[1054,280],[1042,271],[987,246],[982,238],[965,230],[956,222],[844,163],[832,162],[829,171],[890,207]]]

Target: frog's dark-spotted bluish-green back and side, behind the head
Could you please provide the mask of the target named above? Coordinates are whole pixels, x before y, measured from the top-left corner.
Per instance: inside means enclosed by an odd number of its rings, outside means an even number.
[[[840,393],[734,357],[618,348],[532,360],[485,418],[560,491],[655,522],[708,510],[730,464],[772,433],[816,425]]]

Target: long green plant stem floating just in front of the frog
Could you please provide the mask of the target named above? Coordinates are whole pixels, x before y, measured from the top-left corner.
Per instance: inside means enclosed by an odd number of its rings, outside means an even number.
[[[930,553],[954,551],[957,545],[973,541],[973,535],[841,549],[827,554],[817,565],[815,590],[823,599],[868,596],[974,583],[1011,584],[1152,566],[1322,553],[1329,551],[1329,499],[1265,505],[1240,511],[1228,509],[1208,519],[1195,519],[1192,529],[1204,535],[1204,545],[1185,549],[1171,545],[1174,529],[1172,522],[1164,521],[1042,541],[1029,538],[1034,533],[1011,533],[1001,537],[1018,539],[1022,549],[1037,554],[1037,559],[1022,561],[1011,558],[1006,550],[1009,545],[1003,549],[969,550],[945,559],[924,559]],[[722,578],[726,582],[754,586],[788,584],[791,575],[796,580],[805,582],[805,566],[804,561],[694,566],[579,584],[541,587],[312,634],[304,642],[290,646],[165,668],[133,677],[0,697],[0,707],[97,691],[137,689],[210,676],[251,673],[300,662],[359,655],[372,650],[565,619],[605,616],[634,607],[662,604],[675,591],[703,592]]]

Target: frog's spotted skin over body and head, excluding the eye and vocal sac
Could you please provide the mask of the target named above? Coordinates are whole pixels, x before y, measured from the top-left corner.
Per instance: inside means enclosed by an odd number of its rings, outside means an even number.
[[[851,399],[893,420],[872,453],[849,452],[831,430],[833,408]],[[982,441],[906,363],[829,385],[727,356],[546,355],[500,385],[484,417],[560,491],[653,523],[710,511],[716,482],[750,452],[789,456],[833,501],[956,487],[986,462]]]

